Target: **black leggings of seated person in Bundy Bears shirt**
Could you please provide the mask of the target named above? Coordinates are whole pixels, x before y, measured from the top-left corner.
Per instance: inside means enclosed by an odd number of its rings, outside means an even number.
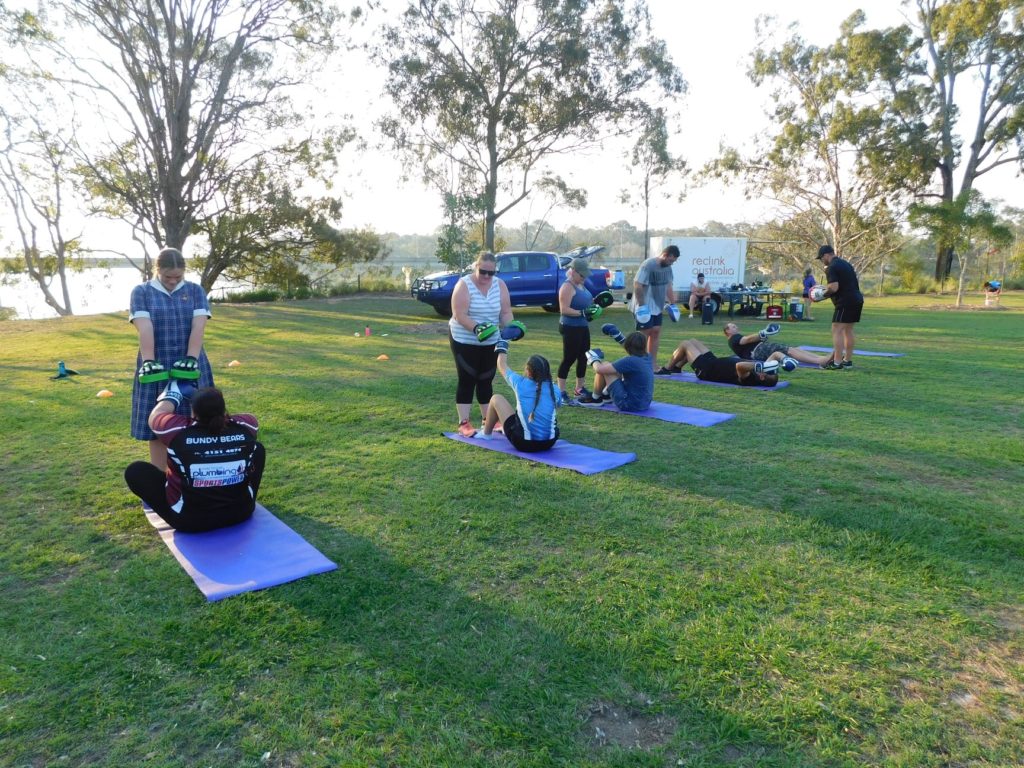
[[[201,505],[185,507],[180,513],[173,511],[167,503],[167,475],[150,462],[129,464],[125,470],[125,482],[135,496],[148,504],[153,511],[172,528],[186,534],[198,534],[234,525],[252,517],[265,464],[266,451],[263,449],[263,443],[257,442],[249,466],[248,485],[252,489],[252,499],[246,500],[245,504],[240,504],[236,508],[216,512],[204,510]]]

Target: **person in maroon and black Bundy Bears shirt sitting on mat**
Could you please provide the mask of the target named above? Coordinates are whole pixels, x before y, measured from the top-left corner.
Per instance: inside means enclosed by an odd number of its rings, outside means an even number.
[[[178,416],[191,400],[191,416]],[[228,414],[216,387],[196,390],[171,379],[150,413],[150,428],[167,445],[167,471],[134,462],[125,482],[172,528],[212,530],[247,520],[256,508],[266,452],[251,414]]]

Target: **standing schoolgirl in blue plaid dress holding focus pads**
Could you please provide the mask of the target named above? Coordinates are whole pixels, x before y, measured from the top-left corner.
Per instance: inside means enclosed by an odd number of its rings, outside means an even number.
[[[203,288],[184,280],[185,260],[175,248],[165,248],[157,256],[157,276],[135,286],[131,292],[128,322],[138,333],[136,370],[171,371],[172,368],[198,370],[198,387],[213,386],[213,371],[203,350],[203,334],[211,316],[210,303]],[[150,461],[167,469],[167,446],[150,429],[150,412],[166,381],[143,384],[133,377],[131,396],[131,436],[150,441]],[[189,416],[187,403],[179,414]]]

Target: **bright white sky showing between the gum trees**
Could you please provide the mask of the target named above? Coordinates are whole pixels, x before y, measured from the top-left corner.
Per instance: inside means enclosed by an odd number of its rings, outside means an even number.
[[[385,6],[400,4],[401,0],[385,0]],[[783,30],[798,23],[805,40],[825,45],[857,8],[865,12],[871,27],[899,24],[905,12],[898,0],[648,0],[647,5],[655,34],[667,41],[689,85],[678,108],[681,119],[672,126],[671,146],[691,168],[713,159],[720,142],[742,146],[768,127],[767,89],[755,88],[746,77],[759,14],[775,16]],[[379,75],[344,80],[348,85],[339,92],[340,98],[350,99],[352,104],[371,104],[371,113],[386,106],[380,95]],[[371,113],[360,114],[365,124],[369,124]],[[372,129],[368,135],[372,139]],[[620,202],[622,189],[630,183],[627,152],[625,145],[608,146],[560,165],[559,172],[570,184],[588,190],[589,202],[583,210],[555,212],[550,217],[552,223],[597,227],[627,220],[642,227],[642,210]],[[436,194],[423,189],[415,178],[403,181],[400,177],[398,162],[386,150],[368,150],[357,158],[347,158],[338,179],[339,187],[350,195],[343,225],[372,226],[380,232],[432,232],[441,221]],[[1011,195],[1019,196],[1024,184],[1012,169],[1006,169],[999,178],[982,181],[979,188],[989,196],[1011,199]],[[657,201],[652,207],[652,228],[699,226],[710,220],[758,220],[770,214],[766,202],[745,201],[740,189],[721,184],[693,188],[681,203],[676,197]],[[531,211],[528,205],[513,209],[501,223],[518,225],[542,213],[540,209]]]

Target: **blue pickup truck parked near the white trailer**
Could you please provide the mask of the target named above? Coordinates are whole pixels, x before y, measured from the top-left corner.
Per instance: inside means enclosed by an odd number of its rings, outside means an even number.
[[[558,289],[565,282],[565,270],[574,258],[590,259],[604,250],[604,246],[577,248],[568,253],[557,254],[547,251],[505,251],[497,254],[498,276],[505,281],[509,289],[512,306],[539,306],[549,312],[558,311]],[[413,297],[430,304],[442,317],[452,316],[452,291],[455,284],[469,270],[434,272],[418,278],[413,283]],[[587,278],[587,288],[593,294],[611,289],[616,276],[600,267],[591,267]]]

